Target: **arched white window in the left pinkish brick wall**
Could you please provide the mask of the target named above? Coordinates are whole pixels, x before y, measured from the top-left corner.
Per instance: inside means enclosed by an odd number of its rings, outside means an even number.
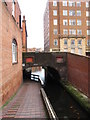
[[[17,63],[17,42],[15,39],[12,41],[12,63]]]

